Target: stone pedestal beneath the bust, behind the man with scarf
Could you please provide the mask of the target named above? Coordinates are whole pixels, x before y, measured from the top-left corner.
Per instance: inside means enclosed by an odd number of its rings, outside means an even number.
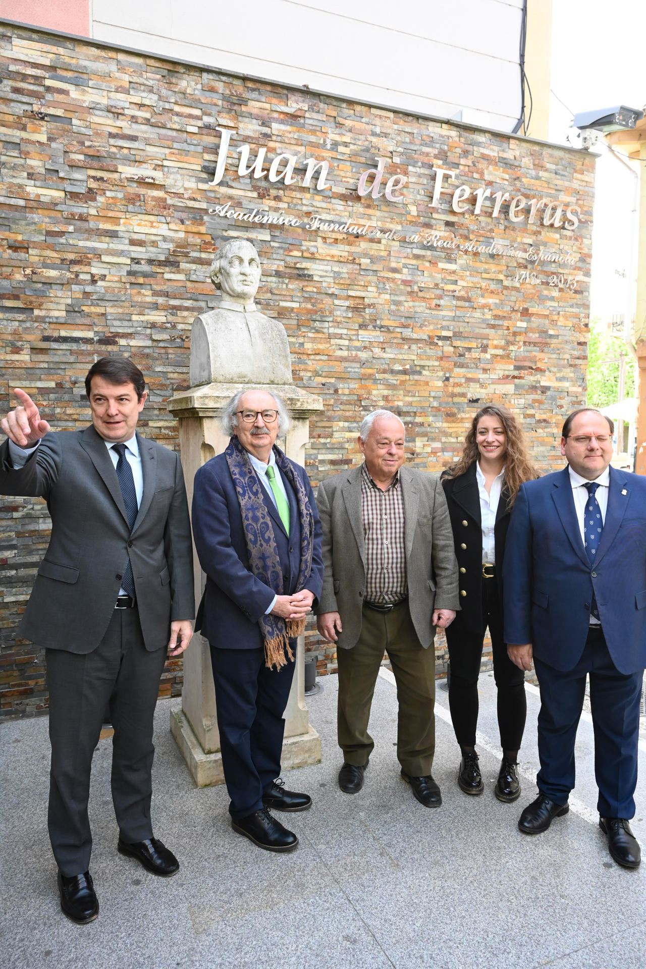
[[[305,445],[309,440],[309,419],[323,408],[321,397],[301,391],[293,385],[259,387],[278,393],[285,401],[292,419],[286,439],[278,444],[298,464],[305,463]],[[179,422],[182,467],[186,480],[189,508],[193,501],[193,479],[202,464],[222,453],[229,437],[220,426],[220,416],[234,393],[244,390],[240,384],[206,384],[178,393],[169,400],[170,413]],[[196,602],[204,588],[204,575],[194,552]],[[298,640],[296,669],[292,692],[285,711],[283,767],[318,764],[321,761],[321,738],[310,726],[305,705],[304,637]],[[196,784],[222,784],[224,773],[220,755],[220,735],[215,713],[215,689],[211,672],[208,642],[196,634],[184,653],[184,686],[182,708],[170,714],[170,732],[182,752]]]

